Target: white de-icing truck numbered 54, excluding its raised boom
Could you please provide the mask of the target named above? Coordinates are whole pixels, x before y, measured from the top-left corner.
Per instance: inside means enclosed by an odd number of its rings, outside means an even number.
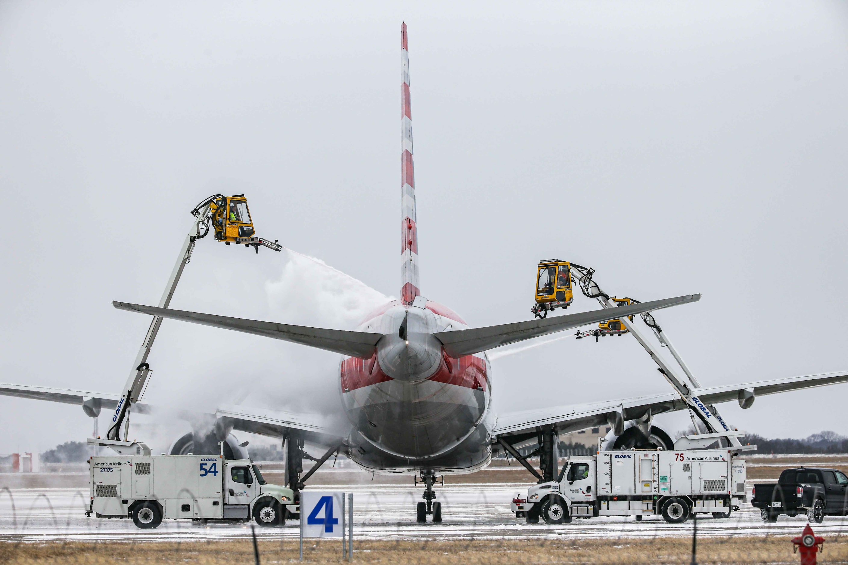
[[[292,490],[268,484],[250,459],[135,455],[143,452],[141,448],[129,452],[132,455],[88,460],[91,503],[86,516],[132,518],[139,528],[155,528],[162,518],[252,517],[259,525],[276,526],[286,523],[287,509],[296,512],[295,507],[289,506],[294,504]]]

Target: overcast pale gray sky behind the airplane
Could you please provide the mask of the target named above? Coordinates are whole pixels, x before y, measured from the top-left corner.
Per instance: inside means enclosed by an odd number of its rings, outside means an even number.
[[[402,21],[422,294],[529,319],[538,259],[571,259],[613,294],[703,293],[656,318],[705,385],[848,369],[846,3],[3,2],[0,382],[119,391],[149,319],[110,301],[159,300],[216,192],[364,284],[210,238],[173,307],[344,327],[397,296]],[[340,408],[331,353],[166,321],[150,361],[149,402]],[[494,369],[501,411],[667,391],[630,337]],[[848,434],[846,396],[722,414]],[[0,429],[32,451],[91,422],[0,398]]]

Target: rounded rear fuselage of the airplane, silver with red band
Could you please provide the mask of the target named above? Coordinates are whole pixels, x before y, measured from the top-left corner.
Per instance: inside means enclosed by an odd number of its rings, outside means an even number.
[[[491,458],[491,367],[485,353],[452,358],[433,335],[465,330],[423,298],[388,302],[357,330],[382,338],[371,358],[343,358],[339,385],[353,424],[350,457],[382,472],[471,471]]]

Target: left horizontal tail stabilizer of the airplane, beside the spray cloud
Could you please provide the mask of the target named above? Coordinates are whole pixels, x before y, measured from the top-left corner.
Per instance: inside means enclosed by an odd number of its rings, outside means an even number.
[[[277,324],[276,322],[216,316],[215,314],[172,310],[127,302],[112,302],[112,304],[119,310],[145,313],[159,316],[159,318],[178,319],[193,324],[210,325],[213,328],[224,330],[243,331],[246,334],[265,335],[265,337],[272,337],[275,340],[292,341],[304,346],[317,347],[328,352],[341,353],[351,357],[371,357],[374,348],[377,346],[377,341],[380,341],[382,337],[382,334],[365,331],[329,330],[304,325]]]

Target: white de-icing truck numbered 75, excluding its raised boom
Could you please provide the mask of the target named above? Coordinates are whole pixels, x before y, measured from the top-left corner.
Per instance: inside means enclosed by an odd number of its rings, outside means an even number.
[[[528,523],[570,523],[572,518],[662,515],[685,522],[694,512],[729,518],[745,502],[745,459],[728,449],[598,451],[568,457],[557,480],[533,485],[512,500]]]

